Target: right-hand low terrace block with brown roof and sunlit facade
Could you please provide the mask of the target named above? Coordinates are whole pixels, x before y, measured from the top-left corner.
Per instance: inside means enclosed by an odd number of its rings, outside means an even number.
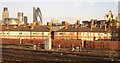
[[[55,39],[65,40],[101,40],[109,39],[111,35],[101,28],[71,27],[62,28],[54,33]]]

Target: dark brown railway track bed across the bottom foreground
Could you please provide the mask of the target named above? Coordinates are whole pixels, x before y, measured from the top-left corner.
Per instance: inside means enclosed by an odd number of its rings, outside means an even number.
[[[2,48],[3,61],[43,61],[43,62],[80,62],[80,61],[110,61],[109,58],[105,58],[97,55],[90,54],[76,54],[65,53],[55,51],[36,51],[36,50],[23,50],[14,48]]]

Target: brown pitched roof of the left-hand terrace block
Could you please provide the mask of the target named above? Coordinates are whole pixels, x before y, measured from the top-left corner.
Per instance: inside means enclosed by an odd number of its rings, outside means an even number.
[[[35,31],[35,32],[49,32],[49,28],[47,26],[39,26],[36,25],[34,26],[33,29],[31,29],[31,27],[29,27],[28,25],[20,25],[20,26],[0,26],[0,30],[4,30],[4,31]]]

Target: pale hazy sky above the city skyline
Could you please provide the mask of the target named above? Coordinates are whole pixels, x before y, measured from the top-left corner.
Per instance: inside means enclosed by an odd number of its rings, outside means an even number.
[[[52,18],[69,23],[75,23],[77,20],[104,19],[109,10],[115,15],[118,14],[117,0],[1,0],[0,20],[3,7],[8,7],[11,18],[16,18],[17,12],[23,12],[28,16],[29,23],[33,22],[33,7],[39,7],[44,24]]]

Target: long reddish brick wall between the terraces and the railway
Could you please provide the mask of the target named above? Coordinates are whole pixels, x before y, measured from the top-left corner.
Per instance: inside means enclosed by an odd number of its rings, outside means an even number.
[[[44,40],[41,39],[23,39],[22,44],[44,44]],[[20,44],[20,39],[8,39],[2,38],[0,43],[2,44]],[[58,47],[80,47],[82,45],[81,40],[52,40],[52,45]],[[108,49],[108,50],[120,50],[120,42],[118,41],[86,41],[86,48],[93,49]]]

